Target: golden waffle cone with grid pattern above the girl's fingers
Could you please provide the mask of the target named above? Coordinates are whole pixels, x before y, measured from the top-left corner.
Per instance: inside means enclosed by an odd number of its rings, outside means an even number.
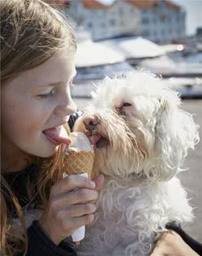
[[[92,177],[94,153],[69,149],[64,158],[66,174],[84,174]]]

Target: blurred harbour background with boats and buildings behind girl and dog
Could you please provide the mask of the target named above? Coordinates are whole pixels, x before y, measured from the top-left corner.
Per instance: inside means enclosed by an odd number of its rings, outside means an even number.
[[[75,29],[77,75],[72,96],[82,110],[106,75],[146,69],[176,89],[202,137],[202,0],[46,0]],[[195,219],[183,226],[202,242],[202,142],[179,175]]]

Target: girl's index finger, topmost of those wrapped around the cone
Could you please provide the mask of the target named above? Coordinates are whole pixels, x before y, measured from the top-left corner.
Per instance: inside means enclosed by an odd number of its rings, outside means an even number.
[[[73,190],[74,188],[96,188],[95,182],[79,175],[69,175],[61,181],[57,181],[51,188],[51,193],[58,195]]]

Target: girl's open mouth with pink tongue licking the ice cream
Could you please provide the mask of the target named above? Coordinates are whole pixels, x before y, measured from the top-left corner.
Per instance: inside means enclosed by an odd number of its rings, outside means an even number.
[[[49,128],[43,131],[45,137],[52,143],[54,146],[60,144],[70,144],[71,139],[68,138],[67,132],[64,127],[57,126],[54,128]]]

